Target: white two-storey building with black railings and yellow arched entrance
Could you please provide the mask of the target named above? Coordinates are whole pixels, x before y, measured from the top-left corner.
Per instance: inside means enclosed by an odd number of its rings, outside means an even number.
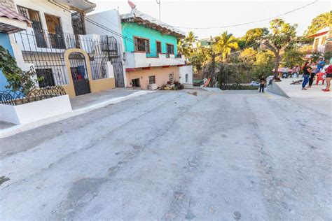
[[[13,1],[13,0],[6,0]],[[14,0],[32,27],[12,35],[25,64],[34,66],[40,87],[62,85],[70,96],[124,87],[120,39],[94,32],[87,0]],[[95,24],[94,24],[95,23]],[[87,25],[88,24],[88,25]],[[16,46],[15,46],[16,45]]]

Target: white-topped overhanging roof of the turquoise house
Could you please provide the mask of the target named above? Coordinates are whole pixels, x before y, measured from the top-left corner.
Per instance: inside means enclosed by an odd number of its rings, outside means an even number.
[[[131,13],[120,15],[120,17],[122,22],[136,22],[137,24],[144,25],[150,29],[156,29],[162,34],[173,35],[177,38],[184,38],[186,35],[184,31],[176,29],[171,25],[166,24],[165,22],[161,22],[160,20],[142,13],[136,9],[132,10]]]

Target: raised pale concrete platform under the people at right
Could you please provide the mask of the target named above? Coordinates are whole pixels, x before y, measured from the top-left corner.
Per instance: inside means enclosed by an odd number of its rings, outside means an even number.
[[[282,78],[280,82],[274,82],[273,86],[268,86],[268,92],[272,92],[284,97],[289,98],[331,98],[331,92],[322,92],[321,88],[325,87],[325,85],[316,85],[316,82],[312,84],[311,88],[307,88],[307,90],[301,90],[301,85],[291,85],[291,83],[296,80],[300,80],[300,78]]]

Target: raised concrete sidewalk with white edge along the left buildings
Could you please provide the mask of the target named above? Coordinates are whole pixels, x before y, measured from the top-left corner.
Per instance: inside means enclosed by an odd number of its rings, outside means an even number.
[[[68,113],[57,115],[54,117],[48,117],[43,120],[36,122],[30,122],[27,124],[11,124],[8,122],[0,122],[0,138],[7,136],[13,136],[22,131],[27,131],[29,129],[34,129],[36,127],[41,127],[46,124],[57,122],[60,120],[67,119],[69,117],[74,117],[76,115],[81,115],[87,113],[91,110],[97,108],[102,108],[109,106],[110,104],[116,104],[133,97],[139,97],[144,94],[149,94],[154,91],[148,90],[131,90],[127,88],[116,88],[113,90],[105,90],[102,92],[84,94],[78,97],[71,98],[71,110]]]

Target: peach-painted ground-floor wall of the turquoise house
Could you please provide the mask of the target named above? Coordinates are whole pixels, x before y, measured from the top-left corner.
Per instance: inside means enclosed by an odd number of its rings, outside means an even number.
[[[131,87],[132,79],[139,78],[141,89],[148,89],[148,76],[155,76],[155,83],[158,87],[166,85],[170,81],[170,74],[174,80],[179,80],[179,67],[170,66],[169,68],[154,67],[150,70],[127,71],[127,85]]]

